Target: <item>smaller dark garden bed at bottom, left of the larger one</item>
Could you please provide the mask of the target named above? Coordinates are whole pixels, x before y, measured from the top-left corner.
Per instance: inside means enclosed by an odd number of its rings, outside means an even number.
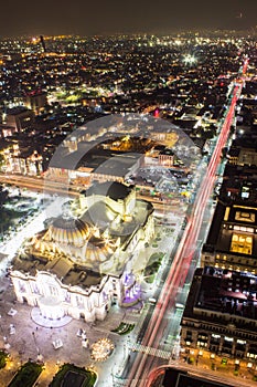
[[[14,378],[10,381],[8,387],[32,387],[35,380],[42,373],[43,365],[28,362],[21,366]]]

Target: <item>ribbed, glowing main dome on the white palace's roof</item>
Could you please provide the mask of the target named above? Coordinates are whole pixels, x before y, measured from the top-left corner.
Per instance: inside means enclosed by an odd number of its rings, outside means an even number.
[[[90,228],[81,219],[56,218],[50,226],[51,239],[57,243],[81,245],[89,237]]]

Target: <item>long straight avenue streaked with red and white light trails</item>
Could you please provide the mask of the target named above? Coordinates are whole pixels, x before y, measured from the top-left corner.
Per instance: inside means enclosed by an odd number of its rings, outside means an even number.
[[[244,69],[244,73],[246,69]],[[174,306],[178,290],[185,283],[197,244],[204,210],[214,187],[216,169],[221,161],[222,149],[225,147],[229,135],[229,128],[233,123],[236,102],[240,94],[240,87],[242,86],[238,84],[234,86],[231,105],[221,127],[216,146],[197,191],[191,215],[188,218],[188,224],[179,249],[175,253],[173,264],[167,276],[167,281],[162,287],[158,303],[148,324],[148,330],[142,341],[142,345],[144,347],[159,348],[160,343],[163,342],[163,335],[169,321],[169,312],[171,311],[172,306]],[[149,378],[149,375],[151,369],[154,368],[158,363],[158,357],[149,356],[148,353],[139,352],[135,358],[130,372],[127,375],[127,386],[150,386],[153,379]]]

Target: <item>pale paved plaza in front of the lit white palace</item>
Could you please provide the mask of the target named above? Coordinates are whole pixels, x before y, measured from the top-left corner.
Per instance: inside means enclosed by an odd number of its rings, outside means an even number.
[[[116,328],[121,321],[137,323],[140,314],[130,314],[115,305],[107,318],[104,322],[97,322],[96,325],[72,320],[64,326],[52,326],[51,328],[35,324],[31,318],[33,308],[14,301],[15,296],[9,279],[4,279],[2,291],[0,297],[0,348],[9,347],[10,358],[7,366],[0,370],[0,387],[9,385],[22,364],[29,359],[36,360],[39,358],[44,363],[44,369],[38,379],[38,386],[49,387],[60,365],[64,363],[73,363],[78,367],[93,366],[99,375],[97,386],[113,386],[111,372],[116,372],[115,364],[118,367],[125,358],[127,348],[124,347],[124,343],[128,337],[119,336],[110,331]],[[15,313],[9,314],[10,310],[15,311]],[[11,334],[12,326],[14,326],[14,334]],[[103,363],[93,362],[90,348],[83,347],[82,338],[77,336],[79,328],[86,331],[89,346],[99,338],[109,337],[115,344],[115,351],[110,358]],[[63,346],[55,349],[53,342],[58,339],[62,341]]]

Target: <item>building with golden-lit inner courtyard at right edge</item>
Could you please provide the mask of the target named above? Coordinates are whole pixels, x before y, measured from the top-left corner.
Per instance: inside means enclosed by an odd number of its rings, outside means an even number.
[[[256,273],[257,208],[218,201],[201,263]]]

